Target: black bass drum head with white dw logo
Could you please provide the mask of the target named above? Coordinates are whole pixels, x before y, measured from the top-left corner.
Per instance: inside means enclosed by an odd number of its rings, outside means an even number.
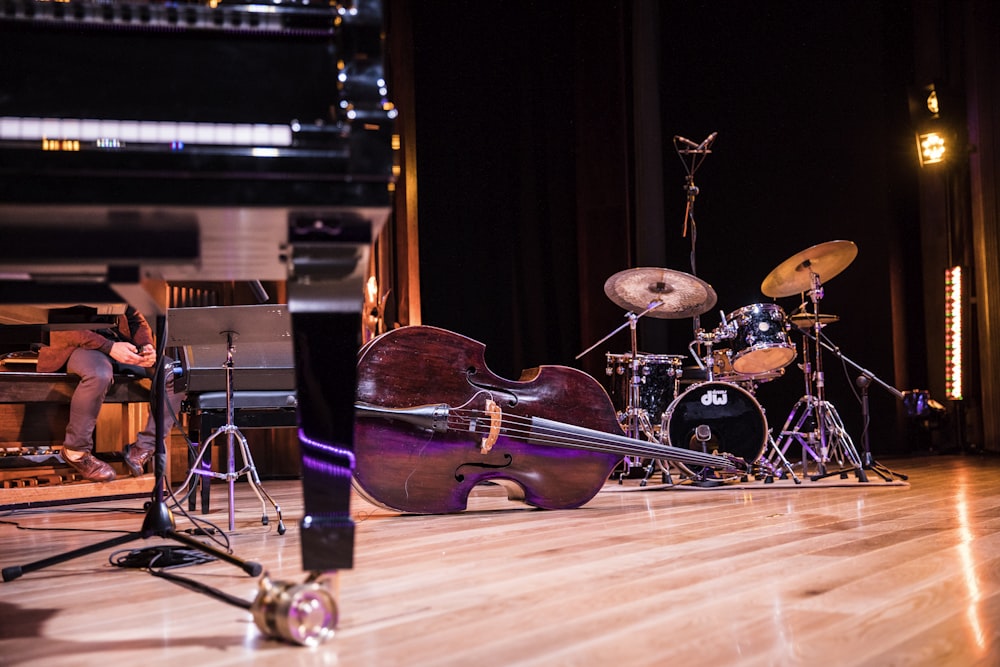
[[[732,454],[753,463],[767,444],[767,419],[745,389],[705,382],[677,397],[665,414],[669,444],[711,454]]]

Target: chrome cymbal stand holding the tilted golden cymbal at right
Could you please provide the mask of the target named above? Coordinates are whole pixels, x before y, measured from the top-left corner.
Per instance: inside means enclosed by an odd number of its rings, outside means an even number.
[[[808,267],[805,267],[808,268]],[[810,299],[813,307],[812,328],[815,334],[813,340],[819,340],[822,325],[819,318],[819,302],[823,298],[823,287],[820,284],[819,276],[810,271],[812,290]],[[817,472],[809,475],[809,479],[817,481],[832,475],[843,475],[849,464],[853,468],[858,480],[867,482],[861,457],[858,455],[854,442],[844,428],[843,420],[837,413],[837,409],[826,400],[826,381],[823,374],[823,350],[821,346],[815,346],[815,366],[810,366],[812,359],[809,344],[804,338],[802,343],[803,374],[805,376],[805,395],[796,402],[789,413],[785,424],[781,429],[780,443],[775,448],[782,456],[787,452],[793,440],[797,440],[802,446],[802,474],[808,475],[808,459],[811,457],[815,463]],[[815,393],[812,388],[815,386]],[[803,431],[810,417],[814,417],[815,428],[810,431]],[[789,428],[789,427],[792,428]],[[819,451],[816,451],[816,445]],[[831,460],[837,461],[840,468],[834,471],[827,469],[827,463]]]

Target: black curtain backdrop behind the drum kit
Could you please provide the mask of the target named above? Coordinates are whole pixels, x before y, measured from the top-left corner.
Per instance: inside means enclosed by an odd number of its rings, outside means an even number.
[[[483,342],[498,375],[565,364],[607,384],[605,353],[627,352],[627,333],[575,356],[624,321],[603,292],[613,273],[696,273],[718,294],[700,320],[712,329],[753,303],[793,311],[800,299],[764,296],[763,279],[843,239],[859,254],[825,286],[821,311],[840,317],[827,333],[888,385],[925,386],[908,8],[413,3],[423,323]],[[650,69],[656,85],[640,87]],[[695,175],[693,268],[672,138],[715,131]],[[691,320],[638,329],[647,353],[684,354],[693,337]],[[832,354],[824,364],[860,446],[858,373]],[[796,364],[760,387],[773,428],[803,390]],[[889,391],[876,384],[871,399],[876,454],[924,446]]]

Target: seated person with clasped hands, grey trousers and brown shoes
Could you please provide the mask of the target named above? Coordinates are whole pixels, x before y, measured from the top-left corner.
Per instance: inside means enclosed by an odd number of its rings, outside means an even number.
[[[128,370],[151,377],[155,366],[153,332],[146,318],[131,306],[118,316],[114,327],[53,331],[49,345],[38,351],[40,373],[65,371],[80,376],[70,399],[62,457],[84,479],[92,482],[115,479],[114,469],[94,456],[94,427],[115,371]],[[166,386],[167,403],[173,414],[177,414],[184,397],[174,393],[172,373],[167,374]],[[170,424],[168,419],[165,425],[169,428]],[[156,419],[151,411],[146,427],[123,452],[133,476],[142,476],[143,466],[155,448]]]

